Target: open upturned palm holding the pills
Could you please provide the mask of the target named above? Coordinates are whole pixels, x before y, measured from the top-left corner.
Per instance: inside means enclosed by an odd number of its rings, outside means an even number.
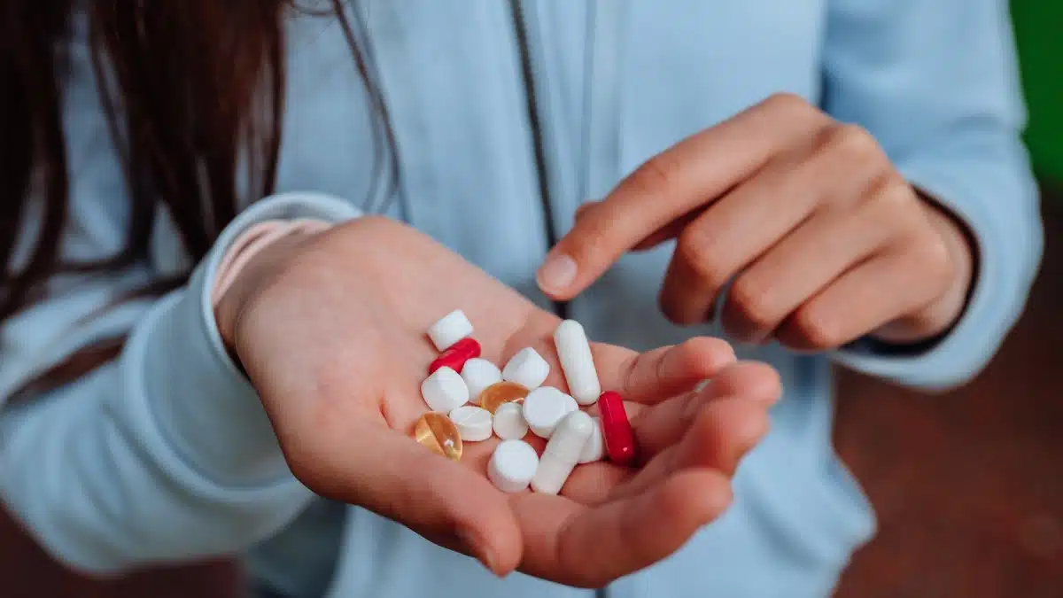
[[[589,464],[561,496],[506,495],[486,478],[497,439],[466,445],[454,463],[409,437],[436,355],[425,330],[454,309],[476,327],[486,359],[501,366],[535,347],[553,365],[546,383],[564,387],[558,318],[381,218],[267,248],[218,321],[306,486],[471,552],[497,575],[519,567],[600,586],[669,555],[727,506],[729,477],[780,393],[770,368],[736,364],[729,346],[704,337],[643,354],[596,344],[603,387],[631,401],[640,466]]]

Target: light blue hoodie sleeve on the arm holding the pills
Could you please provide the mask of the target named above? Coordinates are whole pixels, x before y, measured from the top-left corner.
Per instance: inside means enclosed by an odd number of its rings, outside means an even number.
[[[128,205],[96,87],[84,79],[87,55],[75,50],[62,252],[85,260],[118,249]],[[58,277],[44,300],[0,322],[7,511],[52,555],[92,574],[238,551],[287,525],[313,495],[291,476],[254,388],[223,349],[209,290],[222,253],[248,227],[356,216],[324,196],[268,198],[234,220],[187,285],[163,299],[106,308],[157,278],[146,259],[117,272]],[[54,391],[24,391],[80,348],[126,333],[111,363]]]

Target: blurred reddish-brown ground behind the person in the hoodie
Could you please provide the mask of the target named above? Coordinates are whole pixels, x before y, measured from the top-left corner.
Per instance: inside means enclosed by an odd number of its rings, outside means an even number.
[[[1026,317],[977,381],[927,398],[841,376],[838,447],[880,519],[841,598],[1063,597],[1063,201],[1045,216]],[[3,598],[233,598],[239,586],[224,564],[90,583],[2,520],[0,580]]]

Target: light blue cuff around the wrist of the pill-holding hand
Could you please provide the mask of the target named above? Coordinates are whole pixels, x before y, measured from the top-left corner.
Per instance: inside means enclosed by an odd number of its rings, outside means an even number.
[[[321,194],[283,194],[255,203],[222,231],[187,287],[159,302],[156,309],[165,313],[155,326],[146,327],[141,371],[153,416],[179,455],[216,483],[254,486],[290,476],[255,389],[218,333],[210,293],[219,263],[233,240],[258,222],[335,223],[358,216],[357,209]]]

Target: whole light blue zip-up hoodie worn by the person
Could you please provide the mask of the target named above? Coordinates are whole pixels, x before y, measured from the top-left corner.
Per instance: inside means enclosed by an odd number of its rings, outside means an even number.
[[[938,346],[909,355],[750,352],[779,370],[786,392],[771,434],[738,472],[735,504],[672,558],[605,591],[829,593],[875,529],[831,448],[831,361],[922,387],[961,383],[993,355],[1036,269],[1042,231],[1018,137],[1006,2],[524,0],[534,119],[509,2],[367,4],[402,164],[389,214],[544,306],[534,276],[546,231],[562,234],[580,201],[775,92],[867,128],[913,184],[971,227],[979,277],[963,319]],[[345,199],[296,193],[257,202],[187,286],[95,314],[122,289],[195,266],[164,215],[151,254],[135,266],[56,280],[47,300],[4,322],[2,398],[78,347],[132,331],[116,362],[2,412],[4,502],[83,571],[244,552],[258,581],[298,597],[592,596],[520,574],[496,579],[389,520],[316,498],[288,472],[253,388],[222,350],[207,289],[234,235],[266,218],[354,217],[372,183],[372,117],[337,22],[303,16],[289,27],[280,188]],[[64,253],[78,259],[117,250],[129,217],[84,33],[80,22],[65,114],[72,221]],[[573,317],[597,339],[632,348],[716,332],[678,329],[658,313],[670,250],[624,258],[572,303]]]

